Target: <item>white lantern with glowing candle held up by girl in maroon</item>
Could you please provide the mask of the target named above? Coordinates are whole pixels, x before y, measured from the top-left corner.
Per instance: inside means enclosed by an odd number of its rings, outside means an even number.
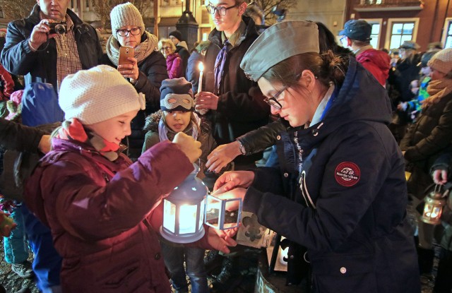
[[[163,199],[163,225],[160,234],[174,243],[190,243],[204,236],[204,205],[207,186],[196,177],[194,171]]]

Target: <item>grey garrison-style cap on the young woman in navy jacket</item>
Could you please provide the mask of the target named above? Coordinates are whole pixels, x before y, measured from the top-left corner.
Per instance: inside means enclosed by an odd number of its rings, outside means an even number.
[[[240,67],[256,81],[280,61],[307,52],[319,53],[316,23],[287,20],[264,30],[246,51]]]

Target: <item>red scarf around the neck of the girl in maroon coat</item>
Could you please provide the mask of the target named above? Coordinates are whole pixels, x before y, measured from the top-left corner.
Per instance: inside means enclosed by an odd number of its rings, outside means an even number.
[[[56,137],[65,140],[76,140],[91,145],[110,161],[114,161],[119,157],[119,145],[110,143],[94,131],[85,128],[76,118],[64,121]]]

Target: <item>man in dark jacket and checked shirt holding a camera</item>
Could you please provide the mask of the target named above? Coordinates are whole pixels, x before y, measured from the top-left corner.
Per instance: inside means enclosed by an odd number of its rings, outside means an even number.
[[[97,66],[102,47],[95,29],[68,9],[69,0],[37,0],[28,18],[8,23],[1,64],[25,84],[52,83]]]

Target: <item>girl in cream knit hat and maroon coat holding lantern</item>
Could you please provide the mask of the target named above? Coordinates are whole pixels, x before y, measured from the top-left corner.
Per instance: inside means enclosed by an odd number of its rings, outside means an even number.
[[[132,164],[120,142],[144,97],[110,66],[67,76],[59,95],[66,121],[25,202],[52,229],[63,292],[171,292],[156,232],[159,203],[193,170],[200,143],[180,133]],[[227,252],[234,241],[208,230],[194,245]]]

